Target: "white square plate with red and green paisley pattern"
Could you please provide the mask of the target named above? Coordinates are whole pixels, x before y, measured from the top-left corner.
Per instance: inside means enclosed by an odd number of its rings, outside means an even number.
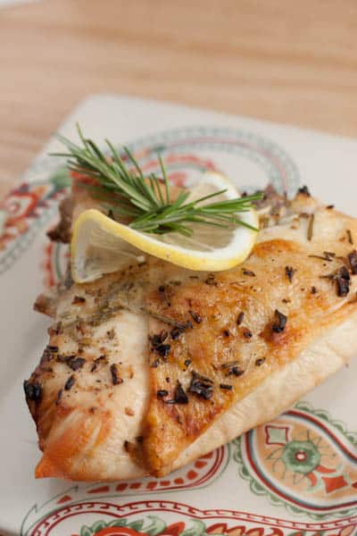
[[[146,171],[161,153],[174,183],[206,169],[240,189],[269,181],[355,214],[357,142],[273,123],[118,96],[92,96],[62,125],[75,136],[128,145]],[[357,525],[357,360],[272,423],[167,478],[134,482],[36,481],[37,435],[22,381],[46,346],[48,321],[32,312],[61,277],[67,250],[46,239],[69,176],[46,156],[0,207],[2,489],[0,532],[21,536],[352,535]],[[299,451],[295,452],[296,441]],[[282,454],[286,453],[286,456]],[[290,454],[291,456],[287,456]]]

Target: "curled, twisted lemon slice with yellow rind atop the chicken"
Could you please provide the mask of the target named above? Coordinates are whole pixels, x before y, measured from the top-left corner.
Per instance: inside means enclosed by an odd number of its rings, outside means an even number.
[[[237,189],[223,175],[207,172],[192,189],[187,203],[226,189],[215,201],[239,197]],[[210,200],[211,201],[211,200]],[[240,219],[258,228],[253,209],[239,214]],[[154,255],[190,270],[218,272],[243,263],[251,252],[257,232],[243,225],[228,228],[192,223],[192,237],[177,232],[163,235],[131,229],[108,218],[96,209],[79,215],[71,241],[71,271],[74,281],[95,281],[104,273],[117,272],[128,264],[144,263],[145,254]]]

